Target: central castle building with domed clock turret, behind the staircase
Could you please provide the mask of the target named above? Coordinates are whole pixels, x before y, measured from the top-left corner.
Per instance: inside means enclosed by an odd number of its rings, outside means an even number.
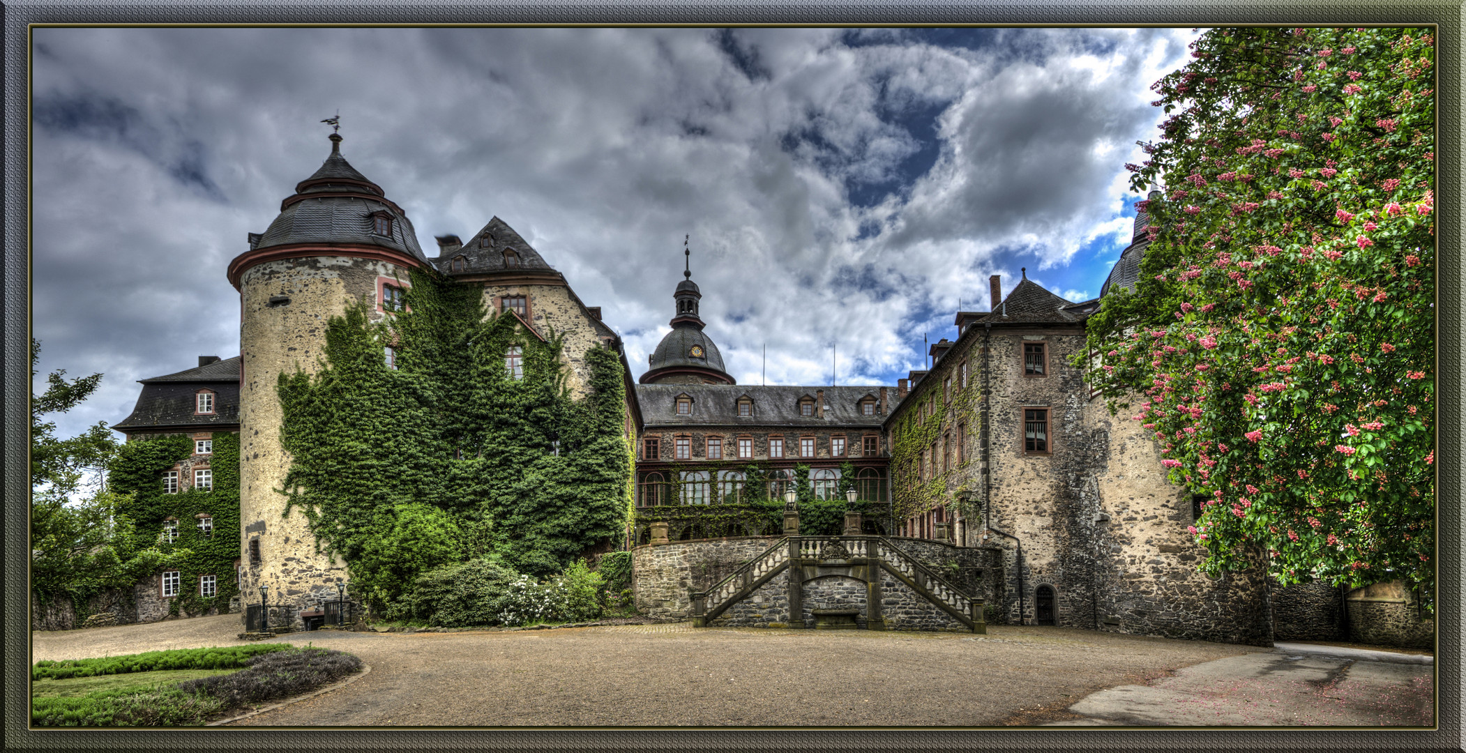
[[[885,533],[890,453],[881,422],[896,396],[885,387],[740,387],[704,331],[690,270],[683,277],[673,293],[671,331],[636,385],[644,428],[633,541],[660,541],[654,523],[667,524],[671,541],[770,533],[770,522],[745,505],[781,500],[799,466],[808,467],[817,500],[836,500],[853,486],[861,501],[880,508],[868,516],[869,530]],[[730,513],[710,523],[710,507]]]

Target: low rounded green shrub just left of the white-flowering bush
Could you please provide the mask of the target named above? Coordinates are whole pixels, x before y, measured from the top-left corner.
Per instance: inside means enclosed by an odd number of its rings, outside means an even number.
[[[409,595],[412,617],[438,627],[488,626],[509,585],[519,577],[496,558],[443,565],[418,576]]]

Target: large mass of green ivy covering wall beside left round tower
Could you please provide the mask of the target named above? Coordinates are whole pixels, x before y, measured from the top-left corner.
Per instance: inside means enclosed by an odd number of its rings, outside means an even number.
[[[349,306],[327,324],[317,374],[280,375],[286,514],[306,516],[377,607],[438,565],[496,554],[548,576],[620,541],[632,456],[619,355],[588,350],[575,398],[563,337],[487,315],[482,287],[413,271],[405,302],[381,322],[365,300]]]

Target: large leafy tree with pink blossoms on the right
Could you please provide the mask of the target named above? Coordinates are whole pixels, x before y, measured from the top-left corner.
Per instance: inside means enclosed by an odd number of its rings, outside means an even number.
[[[1422,29],[1212,29],[1155,84],[1170,117],[1130,290],[1091,376],[1205,497],[1211,573],[1403,579],[1435,557],[1434,48]]]

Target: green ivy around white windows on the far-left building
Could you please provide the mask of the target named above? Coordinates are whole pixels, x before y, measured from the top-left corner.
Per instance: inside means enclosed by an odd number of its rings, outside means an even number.
[[[192,435],[135,438],[122,445],[107,476],[111,491],[132,495],[120,514],[133,523],[133,541],[129,542],[133,551],[158,546],[164,554],[188,552],[176,557],[169,567],[179,571],[179,595],[163,599],[169,615],[196,617],[214,609],[227,612],[229,601],[239,593],[235,570],[239,560],[239,435],[214,432],[213,450],[213,454],[195,456]],[[213,470],[210,491],[189,483],[192,470],[204,464]],[[167,494],[163,473],[174,466],[182,467],[179,476],[185,482],[177,494]],[[205,535],[198,527],[199,514],[210,516],[211,533]],[[161,538],[163,522],[169,519],[177,520],[177,539],[173,542]],[[214,596],[199,595],[199,576],[216,577]],[[136,592],[148,598],[157,593],[157,587],[154,574],[152,583],[139,585]],[[138,609],[138,618],[147,621],[147,609]]]

